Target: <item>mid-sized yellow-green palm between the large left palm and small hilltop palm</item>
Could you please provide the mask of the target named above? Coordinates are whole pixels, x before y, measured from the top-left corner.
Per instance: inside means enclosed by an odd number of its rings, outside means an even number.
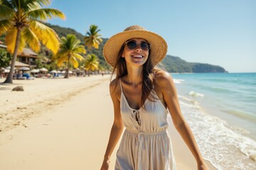
[[[75,35],[68,34],[67,38],[61,38],[60,51],[56,55],[57,65],[60,66],[63,62],[68,64],[68,69],[65,74],[65,78],[68,78],[68,72],[70,69],[70,64],[73,67],[78,67],[78,60],[83,60],[84,58],[78,53],[85,54],[85,46],[80,45],[80,40],[78,40]]]

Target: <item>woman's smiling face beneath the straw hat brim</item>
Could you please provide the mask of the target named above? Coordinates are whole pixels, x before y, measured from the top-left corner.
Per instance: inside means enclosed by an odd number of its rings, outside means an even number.
[[[127,43],[130,41],[137,43],[136,46],[136,44],[133,42],[134,49],[132,50],[130,49],[131,47],[129,48],[129,45],[127,45]],[[125,43],[122,57],[124,57],[127,64],[142,66],[146,62],[149,57],[149,50],[146,50],[145,44],[142,44],[142,42],[146,42],[146,40],[142,38],[132,38]]]

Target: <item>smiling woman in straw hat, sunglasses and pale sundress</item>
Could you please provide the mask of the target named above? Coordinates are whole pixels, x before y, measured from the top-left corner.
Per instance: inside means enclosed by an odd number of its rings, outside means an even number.
[[[166,131],[169,112],[176,130],[196,158],[198,169],[208,169],[181,115],[170,74],[155,67],[166,52],[164,38],[141,26],[130,26],[106,42],[105,60],[117,72],[110,83],[114,123],[102,170],[109,168],[110,156],[124,127],[115,169],[176,169],[171,139]]]

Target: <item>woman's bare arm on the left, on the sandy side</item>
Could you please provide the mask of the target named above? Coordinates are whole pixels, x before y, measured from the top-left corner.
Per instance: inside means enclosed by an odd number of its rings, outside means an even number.
[[[116,81],[116,79],[114,81]],[[122,117],[120,113],[120,102],[117,98],[118,92],[117,90],[114,91],[115,89],[113,86],[114,81],[112,81],[112,83],[110,84],[110,95],[114,105],[114,123],[110,131],[110,140],[107,145],[101,170],[107,170],[109,168],[111,154],[114,150],[114,147],[117,145],[117,142],[120,136],[122,135],[122,131],[124,129],[124,125],[122,124]]]

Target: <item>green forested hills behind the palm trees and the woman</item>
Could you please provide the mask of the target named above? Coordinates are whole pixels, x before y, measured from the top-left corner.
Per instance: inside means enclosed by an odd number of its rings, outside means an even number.
[[[63,28],[61,26],[51,25],[50,23],[45,23],[46,26],[53,28],[55,32],[58,34],[58,36],[65,37],[67,34],[74,34],[76,37],[81,41],[81,44],[84,44],[84,35],[81,33],[78,33],[73,28]],[[86,28],[85,28],[86,29]],[[0,36],[0,40],[4,41],[4,35]],[[100,64],[105,69],[110,69],[110,65],[105,62],[105,59],[102,55],[102,50],[105,45],[105,42],[107,42],[108,38],[102,38],[103,42],[99,45],[99,49],[92,48],[90,50],[86,48],[87,54],[93,53],[97,55],[100,59]],[[223,67],[215,66],[211,64],[201,64],[201,63],[193,63],[193,62],[186,62],[185,60],[182,60],[180,57],[174,57],[171,55],[166,55],[163,62],[164,67],[168,72],[174,72],[174,73],[206,73],[206,72],[227,72]]]

